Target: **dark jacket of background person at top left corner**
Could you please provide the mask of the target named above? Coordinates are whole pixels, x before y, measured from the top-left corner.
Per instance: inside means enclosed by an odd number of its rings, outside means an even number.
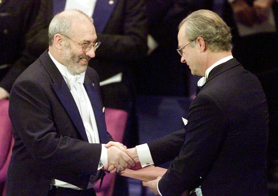
[[[40,0],[2,0],[0,2],[0,87],[10,92],[14,81],[38,56],[29,51],[27,42],[39,11]]]

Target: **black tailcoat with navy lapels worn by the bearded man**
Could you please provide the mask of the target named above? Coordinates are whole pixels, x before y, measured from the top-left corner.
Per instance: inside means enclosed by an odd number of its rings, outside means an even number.
[[[107,135],[96,71],[88,67],[84,87],[100,141]],[[65,80],[45,51],[16,80],[9,116],[14,146],[7,195],[47,195],[51,179],[86,189],[96,175],[101,144],[88,143],[78,108]]]

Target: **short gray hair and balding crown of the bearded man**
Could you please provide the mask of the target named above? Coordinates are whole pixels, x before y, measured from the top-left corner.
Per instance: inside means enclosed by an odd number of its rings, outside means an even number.
[[[56,14],[50,22],[48,28],[49,45],[52,46],[54,35],[56,35],[57,33],[69,37],[73,36],[71,30],[72,22],[78,21],[82,23],[85,20],[89,20],[94,23],[94,20],[91,17],[78,9],[69,9]]]

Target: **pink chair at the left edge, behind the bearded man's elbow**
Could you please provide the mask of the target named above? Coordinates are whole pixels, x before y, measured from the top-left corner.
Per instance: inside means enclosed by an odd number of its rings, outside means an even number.
[[[7,171],[14,144],[8,107],[8,100],[0,100],[0,194],[3,196],[5,195]]]

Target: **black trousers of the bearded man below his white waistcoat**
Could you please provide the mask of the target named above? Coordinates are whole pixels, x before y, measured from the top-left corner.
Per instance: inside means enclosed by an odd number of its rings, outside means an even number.
[[[48,190],[47,196],[96,196],[96,192],[94,188],[76,190],[72,188],[53,186],[50,190]]]

